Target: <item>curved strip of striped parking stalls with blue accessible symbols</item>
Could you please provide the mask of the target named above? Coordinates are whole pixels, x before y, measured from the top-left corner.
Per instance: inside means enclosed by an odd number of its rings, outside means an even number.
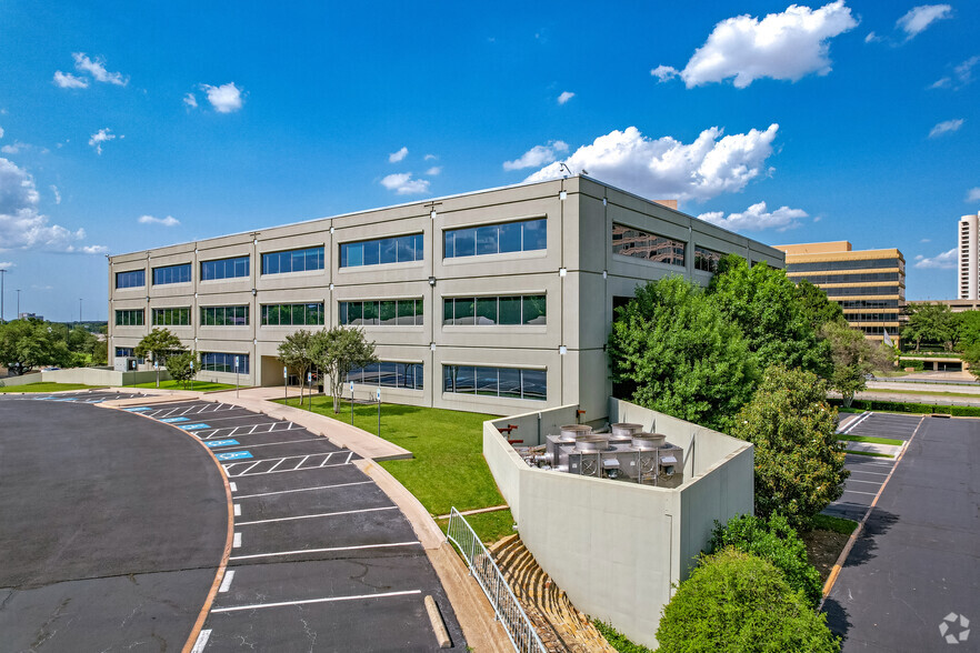
[[[231,555],[197,651],[431,651],[426,595],[466,649],[411,525],[351,451],[230,404],[124,410],[199,439],[231,488]]]

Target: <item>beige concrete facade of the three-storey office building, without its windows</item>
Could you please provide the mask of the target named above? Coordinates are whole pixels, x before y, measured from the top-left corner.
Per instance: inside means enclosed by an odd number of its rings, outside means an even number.
[[[447,258],[447,230],[511,221],[546,221],[547,248]],[[683,265],[614,254],[613,224],[683,243]],[[341,267],[340,245],[366,239],[422,234],[423,257],[409,262]],[[322,247],[322,269],[263,274],[263,253]],[[611,393],[603,351],[613,307],[633,295],[638,284],[668,274],[683,274],[707,284],[711,272],[699,270],[696,248],[720,254],[734,252],[751,262],[783,265],[780,251],[644,200],[596,180],[574,177],[479,191],[287,224],[271,229],[190,242],[110,258],[110,355],[133,348],[154,324],[153,309],[189,309],[190,324],[168,325],[183,344],[199,352],[249,356],[242,384],[282,384],[277,350],[297,329],[339,323],[339,302],[421,300],[421,324],[363,326],[380,360],[423,366],[423,388],[384,388],[383,401],[493,414],[580,403],[589,419],[604,416]],[[247,277],[201,280],[201,263],[248,257]],[[700,253],[699,253],[700,257]],[[189,281],[154,284],[153,269],[190,264]],[[144,284],[117,288],[117,274],[142,270]],[[444,298],[543,295],[544,323],[519,325],[443,324]],[[323,304],[323,323],[279,326],[262,324],[262,307],[284,303]],[[206,307],[247,305],[247,324],[202,324]],[[117,324],[143,312],[141,324]],[[443,391],[444,365],[480,365],[543,371],[544,401],[484,396]],[[227,371],[204,371],[202,380],[234,382]],[[370,388],[359,386],[367,398]]]

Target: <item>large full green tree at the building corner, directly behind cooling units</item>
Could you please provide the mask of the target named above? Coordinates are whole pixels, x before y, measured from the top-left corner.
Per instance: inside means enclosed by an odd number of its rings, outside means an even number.
[[[608,355],[614,383],[640,405],[724,430],[758,371],[738,325],[681,277],[637,289],[617,310]]]

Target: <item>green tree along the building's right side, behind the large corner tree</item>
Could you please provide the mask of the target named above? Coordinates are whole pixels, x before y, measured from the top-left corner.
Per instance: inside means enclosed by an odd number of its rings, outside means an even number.
[[[736,254],[722,258],[708,293],[746,336],[760,369],[769,365],[830,373],[830,348],[820,341],[796,284],[783,270],[749,267]]]

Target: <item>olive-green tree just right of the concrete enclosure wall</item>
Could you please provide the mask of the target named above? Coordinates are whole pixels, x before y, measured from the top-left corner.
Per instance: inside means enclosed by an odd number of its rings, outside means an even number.
[[[756,445],[756,514],[780,513],[793,528],[843,494],[844,451],[827,383],[803,370],[772,366],[731,432]]]

